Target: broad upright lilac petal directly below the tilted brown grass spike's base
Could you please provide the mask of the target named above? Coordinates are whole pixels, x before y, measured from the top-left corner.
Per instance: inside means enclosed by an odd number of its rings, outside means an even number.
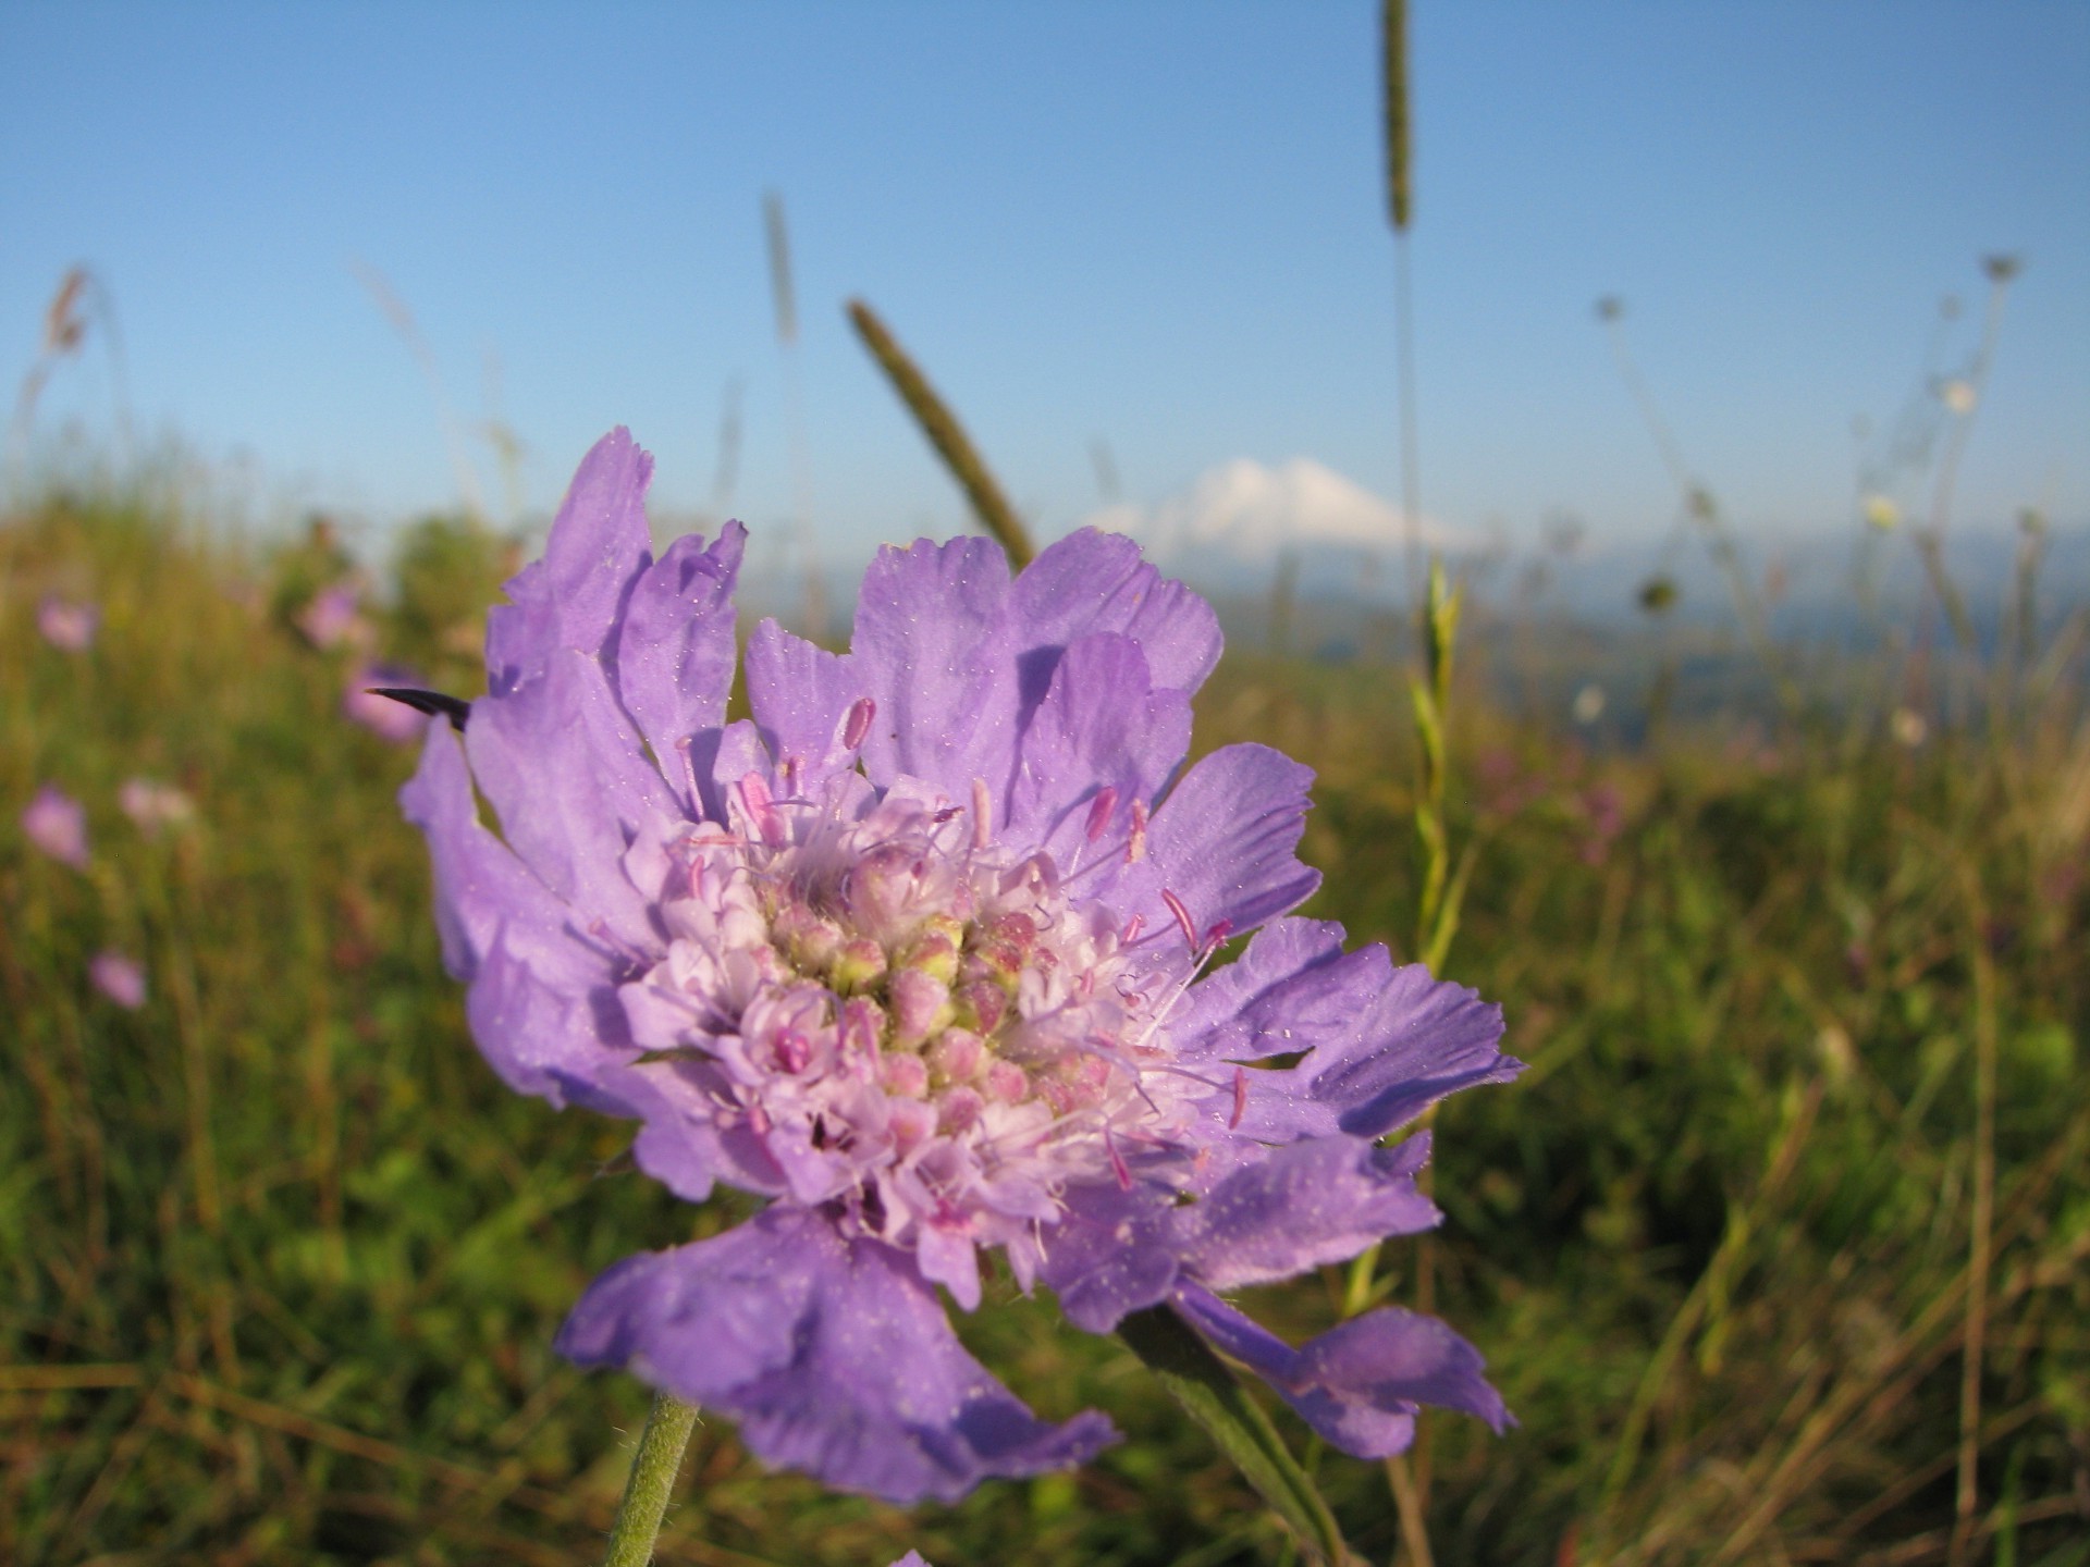
[[[984,777],[997,811],[1016,754],[1009,562],[993,539],[880,549],[863,575],[851,654],[878,702],[863,771],[920,777],[953,800]]]

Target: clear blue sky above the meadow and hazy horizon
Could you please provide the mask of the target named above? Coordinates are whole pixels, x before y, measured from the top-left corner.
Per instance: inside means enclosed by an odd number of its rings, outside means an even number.
[[[2017,251],[1958,527],[2090,520],[2090,6],[1417,0],[1413,73],[1427,512],[1670,524],[1593,315],[1618,295],[1741,524],[1843,527],[1852,418],[1906,401],[1948,293],[1948,359],[1971,347],[1979,257]],[[1381,192],[1369,0],[0,0],[0,368],[86,261],[142,430],[372,522],[458,476],[355,263],[458,422],[527,443],[533,510],[619,422],[665,508],[709,506],[740,380],[734,510],[788,518],[796,374],[823,547],[959,527],[842,318],[859,293],[1045,535],[1099,506],[1099,439],[1141,504],[1239,455],[1394,495]],[[111,407],[90,345],[40,428]]]

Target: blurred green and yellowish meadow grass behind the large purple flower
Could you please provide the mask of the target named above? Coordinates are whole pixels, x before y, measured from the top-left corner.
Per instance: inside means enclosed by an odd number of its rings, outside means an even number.
[[[468,689],[497,556],[414,535],[387,652]],[[393,804],[412,756],[341,721],[343,656],[282,618],[314,568],[134,501],[0,524],[0,1561],[591,1561],[646,1398],[552,1331],[614,1258],[736,1216],[472,1051]],[[38,639],[44,591],[102,604],[90,654]],[[1967,1561],[2086,1561],[2090,729],[2059,669],[1914,750],[1845,706],[1586,756],[1484,706],[1480,671],[1461,689],[1450,819],[1480,859],[1448,974],[1532,1070],[1444,1107],[1448,1220],[1381,1260],[1413,1302],[1427,1247],[1522,1421],[1430,1423],[1438,1563],[1921,1563],[1956,1523]],[[1200,702],[1200,746],[1321,769],[1310,911],[1396,953],[1407,715],[1394,671],[1239,656]],[[196,823],[138,832],[134,773]],[[13,825],[46,779],[88,804],[86,875]],[[88,988],[104,946],[146,959],[142,1011]],[[1302,1335],[1342,1277],[1258,1295]],[[704,1423],[660,1559],[1290,1561],[1120,1346],[1005,1283],[961,1331],[1127,1442],[909,1515]],[[1315,1460],[1390,1561],[1386,1477]]]

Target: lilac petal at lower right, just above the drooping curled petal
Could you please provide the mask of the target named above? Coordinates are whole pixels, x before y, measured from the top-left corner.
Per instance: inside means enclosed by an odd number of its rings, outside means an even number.
[[[1325,1137],[1271,1149],[1175,1212],[1183,1272],[1212,1289],[1262,1285],[1430,1229],[1440,1214],[1415,1189],[1427,1155],[1427,1137],[1400,1147]]]

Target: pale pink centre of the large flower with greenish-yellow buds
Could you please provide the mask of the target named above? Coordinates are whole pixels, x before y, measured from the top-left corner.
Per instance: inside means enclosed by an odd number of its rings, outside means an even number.
[[[729,825],[677,846],[669,951],[640,984],[688,1013],[671,1055],[702,1061],[713,1118],[794,1199],[915,1245],[966,1300],[972,1245],[1183,1145],[1208,1084],[1158,1070],[1181,949],[1072,892],[1078,859],[997,844],[984,786],[970,806],[857,773],[817,800],[757,775],[729,794]]]

